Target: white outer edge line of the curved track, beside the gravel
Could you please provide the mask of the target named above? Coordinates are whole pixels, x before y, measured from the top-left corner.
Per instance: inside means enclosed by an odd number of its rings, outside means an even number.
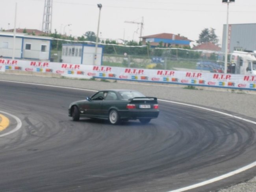
[[[6,81],[6,80],[0,80],[0,81]],[[29,84],[29,85],[40,85],[40,86],[46,86],[46,87],[59,87],[59,88],[65,88],[65,89],[86,90],[86,91],[96,92],[96,90],[80,89],[80,88],[72,88],[72,87],[61,87],[61,86],[57,86],[57,85],[44,85],[44,84],[38,84],[38,83],[25,83],[25,82],[19,82],[19,81],[6,81],[6,82],[23,83],[23,84]],[[254,122],[254,121],[251,121],[251,120],[248,120],[248,119],[245,119],[245,118],[241,118],[239,116],[235,116],[235,115],[232,115],[232,114],[224,113],[224,112],[221,112],[221,111],[216,111],[216,110],[213,110],[213,109],[208,109],[206,107],[200,107],[200,106],[197,106],[197,105],[190,105],[190,104],[186,104],[186,103],[172,102],[172,101],[161,100],[161,99],[159,99],[159,101],[167,102],[167,103],[174,103],[174,104],[178,104],[178,105],[186,105],[186,106],[189,106],[189,107],[196,107],[198,109],[203,109],[203,110],[207,110],[207,111],[223,114],[223,115],[230,116],[230,117],[233,117],[233,118],[237,118],[239,120],[243,120],[243,121],[246,121],[246,122],[249,122],[249,123],[252,123],[252,124],[256,125],[256,122]],[[2,135],[0,135],[0,137],[1,136]],[[182,191],[191,190],[191,189],[194,189],[194,188],[197,188],[197,187],[200,187],[200,186],[208,185],[210,183],[219,181],[221,179],[226,179],[227,177],[231,177],[233,175],[239,174],[239,173],[241,173],[243,171],[246,171],[246,170],[248,170],[250,168],[253,168],[255,166],[256,166],[256,161],[254,161],[251,164],[248,164],[246,166],[243,166],[243,167],[241,167],[241,168],[239,168],[237,170],[229,172],[227,174],[224,174],[224,175],[221,175],[221,176],[218,176],[218,177],[214,177],[212,179],[209,179],[207,181],[203,181],[203,182],[200,182],[200,183],[197,183],[197,184],[194,184],[194,185],[189,185],[189,186],[186,186],[186,187],[183,187],[183,188],[179,188],[179,189],[176,189],[176,190],[168,191],[168,192],[182,192]]]

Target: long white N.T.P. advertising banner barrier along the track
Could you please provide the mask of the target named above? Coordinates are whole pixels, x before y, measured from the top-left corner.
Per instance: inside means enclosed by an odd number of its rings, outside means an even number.
[[[4,70],[56,73],[61,74],[61,76],[81,79],[102,78],[256,90],[256,76],[254,75],[121,68],[113,66],[0,59],[1,72],[4,71],[3,68]]]

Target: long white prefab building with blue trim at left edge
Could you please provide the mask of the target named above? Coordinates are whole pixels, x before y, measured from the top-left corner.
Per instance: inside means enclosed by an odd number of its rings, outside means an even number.
[[[5,58],[50,60],[52,37],[0,32],[0,55]],[[13,46],[15,42],[15,49]]]

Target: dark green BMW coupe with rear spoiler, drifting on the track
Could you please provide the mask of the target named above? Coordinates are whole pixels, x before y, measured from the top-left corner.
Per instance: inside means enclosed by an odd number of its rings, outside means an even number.
[[[136,120],[147,124],[159,114],[158,101],[155,97],[146,97],[135,90],[101,90],[86,100],[72,102],[69,116],[73,121],[80,117],[109,120],[118,124],[121,120]]]

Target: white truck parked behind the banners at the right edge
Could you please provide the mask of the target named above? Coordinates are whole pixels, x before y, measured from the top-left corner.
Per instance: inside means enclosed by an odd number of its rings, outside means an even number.
[[[230,55],[228,73],[256,75],[256,57],[254,52],[234,51]]]

